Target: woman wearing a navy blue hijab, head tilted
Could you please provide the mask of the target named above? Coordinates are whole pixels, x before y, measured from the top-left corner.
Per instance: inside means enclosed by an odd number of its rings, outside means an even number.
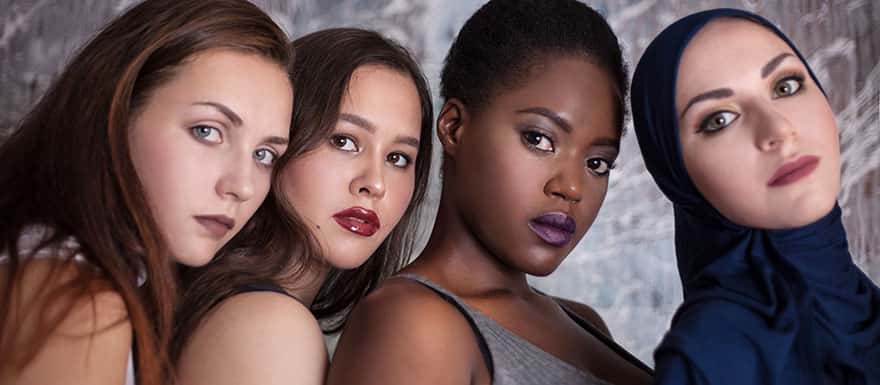
[[[880,384],[880,289],[853,263],[834,114],[758,15],[687,16],[646,49],[632,109],[675,208],[684,303],[658,384]]]

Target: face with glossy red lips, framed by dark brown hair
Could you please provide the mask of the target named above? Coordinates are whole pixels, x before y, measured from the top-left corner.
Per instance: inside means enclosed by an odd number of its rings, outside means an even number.
[[[324,259],[352,269],[373,254],[409,206],[422,115],[413,81],[378,65],[352,73],[339,112],[331,136],[293,159],[281,178],[284,196]]]

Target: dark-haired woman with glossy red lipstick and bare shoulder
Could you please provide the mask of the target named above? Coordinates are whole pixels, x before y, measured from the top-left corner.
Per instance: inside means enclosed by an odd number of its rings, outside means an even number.
[[[327,331],[410,255],[430,170],[430,91],[381,35],[293,42],[296,94],[273,211],[186,274],[172,351],[181,384],[323,384]],[[283,217],[281,225],[265,219]]]

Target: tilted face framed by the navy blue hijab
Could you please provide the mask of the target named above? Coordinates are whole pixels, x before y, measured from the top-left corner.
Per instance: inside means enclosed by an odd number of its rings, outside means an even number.
[[[792,49],[743,19],[706,25],[685,49],[675,95],[685,167],[740,225],[803,226],[840,189],[834,114]]]

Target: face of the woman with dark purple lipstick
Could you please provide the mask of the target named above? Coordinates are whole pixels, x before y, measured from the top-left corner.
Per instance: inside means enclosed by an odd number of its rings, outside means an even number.
[[[615,99],[596,65],[550,57],[463,119],[453,145],[444,140],[444,194],[490,254],[543,276],[584,236],[617,158]]]

